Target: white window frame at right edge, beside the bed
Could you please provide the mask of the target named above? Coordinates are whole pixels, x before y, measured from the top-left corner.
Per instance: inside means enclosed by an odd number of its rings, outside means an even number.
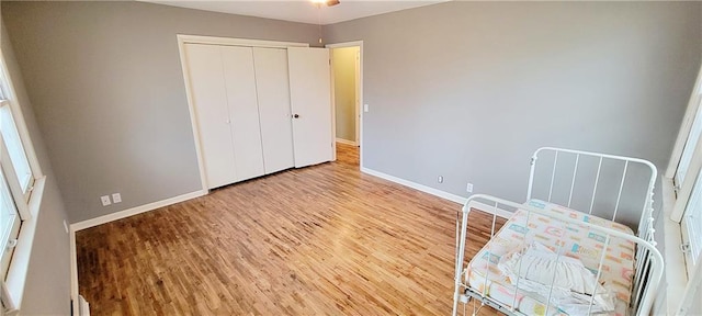
[[[692,131],[692,126],[698,114],[698,111],[702,111],[700,106],[702,103],[702,67],[700,68],[698,78],[695,80],[692,94],[688,103],[680,131],[673,146],[670,160],[666,172],[664,173],[664,211],[667,218],[664,218],[667,223],[665,226],[666,232],[666,261],[667,266],[667,279],[668,279],[668,312],[678,314],[683,313],[690,304],[693,303],[692,297],[699,295],[694,289],[702,285],[700,283],[699,275],[702,274],[702,262],[692,264],[698,258],[692,258],[690,251],[686,251],[683,245],[695,242],[694,240],[688,240],[688,228],[682,223],[686,215],[686,208],[693,190],[698,183],[698,174],[702,169],[702,136],[697,139],[695,148],[692,153],[692,159],[688,166],[687,171],[683,174],[682,183],[678,173],[678,166],[680,163],[686,144]],[[700,179],[699,183],[702,183]],[[698,184],[702,185],[702,184]],[[666,190],[666,188],[673,188],[673,190]],[[670,239],[670,240],[668,240]],[[702,240],[700,240],[702,241]],[[699,245],[702,246],[702,245]],[[672,249],[669,249],[672,248]],[[677,263],[677,264],[676,264]],[[684,266],[684,267],[678,267]],[[686,273],[687,272],[687,273]],[[684,274],[684,275],[679,275]],[[698,276],[694,276],[694,275]],[[693,278],[694,276],[694,278]],[[686,284],[675,284],[673,282],[684,280]],[[680,282],[676,282],[680,283]],[[672,298],[672,300],[671,300]],[[670,301],[676,302],[670,302]],[[671,309],[675,308],[675,309]]]

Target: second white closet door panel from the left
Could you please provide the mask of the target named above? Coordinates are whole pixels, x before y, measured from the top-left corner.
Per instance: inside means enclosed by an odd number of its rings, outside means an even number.
[[[253,49],[222,46],[237,181],[264,174]]]

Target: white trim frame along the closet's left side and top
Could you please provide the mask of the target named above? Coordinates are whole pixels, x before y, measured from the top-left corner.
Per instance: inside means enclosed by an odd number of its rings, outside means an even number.
[[[193,136],[195,140],[195,153],[197,155],[197,167],[200,168],[200,181],[202,190],[208,192],[207,180],[205,177],[205,165],[201,148],[200,126],[197,124],[197,115],[193,94],[191,89],[190,74],[188,71],[188,60],[185,59],[185,44],[205,44],[205,45],[224,45],[224,46],[245,46],[245,47],[268,47],[268,48],[287,48],[287,47],[309,47],[308,43],[295,43],[295,42],[275,42],[275,41],[260,41],[248,38],[230,38],[230,37],[215,37],[215,36],[201,36],[201,35],[188,35],[178,34],[178,50],[180,54],[180,66],[183,71],[183,79],[185,81],[185,97],[188,98],[188,109],[190,111],[190,123],[193,129]]]

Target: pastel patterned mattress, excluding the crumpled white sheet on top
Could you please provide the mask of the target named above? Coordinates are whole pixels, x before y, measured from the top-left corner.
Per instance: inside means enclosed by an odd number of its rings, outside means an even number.
[[[531,200],[525,204],[579,222],[634,235],[624,225],[557,204],[540,200]],[[597,275],[605,239],[607,236],[592,232],[584,225],[566,224],[555,218],[535,213],[529,214],[524,210],[518,210],[505,223],[502,228],[495,234],[492,239],[471,260],[465,275],[466,284],[475,292],[485,293],[486,296],[500,302],[508,308],[511,308],[512,304],[514,304],[516,309],[523,314],[546,315],[545,302],[547,300],[539,294],[520,289],[517,293],[517,300],[514,300],[516,286],[497,269],[500,257],[512,249],[529,245],[531,241],[539,241],[553,251],[562,253],[562,256],[579,259],[587,269]],[[616,295],[615,311],[609,315],[627,315],[634,274],[634,249],[633,241],[616,237],[610,238],[599,279],[602,286],[613,291]],[[548,315],[567,314],[551,305]]]

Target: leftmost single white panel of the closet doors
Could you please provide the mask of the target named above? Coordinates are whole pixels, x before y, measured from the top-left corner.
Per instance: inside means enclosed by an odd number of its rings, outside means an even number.
[[[236,169],[219,46],[185,44],[185,58],[207,188],[233,183]]]

